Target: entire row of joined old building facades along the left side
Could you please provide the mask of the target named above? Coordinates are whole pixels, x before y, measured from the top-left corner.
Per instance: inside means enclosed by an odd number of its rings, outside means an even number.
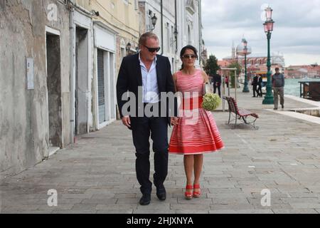
[[[183,46],[205,51],[196,0],[0,1],[0,31],[0,172],[8,174],[119,118],[119,67],[142,33],[159,36],[172,72]]]

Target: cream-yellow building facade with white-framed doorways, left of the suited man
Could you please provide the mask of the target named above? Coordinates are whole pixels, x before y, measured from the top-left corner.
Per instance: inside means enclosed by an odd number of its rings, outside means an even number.
[[[118,69],[124,56],[137,52],[137,1],[73,1],[70,24],[70,81],[74,91],[70,137],[75,138],[117,119]]]

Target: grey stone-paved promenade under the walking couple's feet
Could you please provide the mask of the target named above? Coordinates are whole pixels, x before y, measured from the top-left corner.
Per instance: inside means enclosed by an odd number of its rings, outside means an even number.
[[[166,201],[154,188],[151,204],[140,206],[131,132],[117,121],[18,175],[2,173],[1,213],[319,213],[320,125],[261,103],[238,93],[240,108],[260,115],[258,130],[214,113],[225,150],[205,155],[198,199],[184,199],[183,157],[169,155]],[[310,107],[286,98],[285,108]],[[48,206],[48,190],[58,193],[56,207]],[[270,190],[270,207],[262,206],[262,190]]]

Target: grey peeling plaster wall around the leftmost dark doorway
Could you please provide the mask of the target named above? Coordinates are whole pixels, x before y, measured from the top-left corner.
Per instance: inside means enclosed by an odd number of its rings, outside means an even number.
[[[49,21],[49,4],[58,21]],[[21,172],[48,157],[46,26],[60,31],[62,147],[70,142],[69,12],[55,0],[0,0],[0,172]],[[27,90],[26,58],[34,58]]]

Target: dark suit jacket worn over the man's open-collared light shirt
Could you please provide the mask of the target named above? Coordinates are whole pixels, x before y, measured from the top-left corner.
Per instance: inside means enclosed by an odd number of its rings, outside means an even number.
[[[156,78],[158,82],[159,93],[176,93],[174,88],[174,80],[171,74],[171,65],[169,62],[169,58],[159,55],[157,55],[156,58]],[[124,57],[119,69],[119,75],[117,79],[117,103],[119,113],[122,118],[122,107],[125,103],[127,103],[127,100],[122,100],[122,95],[129,91],[134,93],[134,95],[136,96],[136,117],[130,116],[132,128],[137,122],[138,110],[144,108],[142,98],[138,98],[139,86],[142,86],[142,72],[140,67],[139,54]],[[166,117],[168,118],[169,125],[171,124],[170,116],[177,116],[176,99],[174,101],[174,110],[169,110],[169,102],[168,100],[166,101]]]

